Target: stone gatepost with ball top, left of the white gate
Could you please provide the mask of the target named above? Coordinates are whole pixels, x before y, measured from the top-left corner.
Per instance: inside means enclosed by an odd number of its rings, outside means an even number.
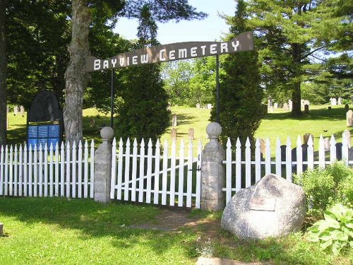
[[[95,151],[95,201],[110,201],[110,181],[112,178],[112,139],[114,131],[111,127],[100,130],[103,142]]]

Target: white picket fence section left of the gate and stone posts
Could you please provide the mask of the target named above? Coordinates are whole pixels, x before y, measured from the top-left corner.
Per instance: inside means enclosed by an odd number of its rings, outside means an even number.
[[[1,146],[0,196],[93,198],[95,146]]]

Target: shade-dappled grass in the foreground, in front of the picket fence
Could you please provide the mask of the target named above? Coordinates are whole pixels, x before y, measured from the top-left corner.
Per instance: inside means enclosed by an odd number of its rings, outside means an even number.
[[[220,213],[184,210],[190,222],[170,230],[164,226],[176,219],[161,215],[172,210],[155,206],[4,197],[0,205],[4,265],[195,264],[201,254],[279,265],[353,261],[352,249],[333,257],[306,242],[300,232],[279,239],[238,240],[220,228]]]

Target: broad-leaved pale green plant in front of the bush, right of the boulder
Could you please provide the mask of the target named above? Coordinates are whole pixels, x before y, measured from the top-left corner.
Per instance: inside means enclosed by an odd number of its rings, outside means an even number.
[[[330,249],[335,256],[345,247],[353,247],[353,209],[335,204],[325,211],[324,220],[309,228],[306,239],[319,242],[323,249]]]

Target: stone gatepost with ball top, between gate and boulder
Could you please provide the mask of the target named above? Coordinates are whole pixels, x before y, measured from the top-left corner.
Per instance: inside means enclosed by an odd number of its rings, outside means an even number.
[[[201,209],[218,211],[225,208],[225,149],[218,141],[222,127],[211,122],[206,128],[210,141],[203,148],[201,161]]]

